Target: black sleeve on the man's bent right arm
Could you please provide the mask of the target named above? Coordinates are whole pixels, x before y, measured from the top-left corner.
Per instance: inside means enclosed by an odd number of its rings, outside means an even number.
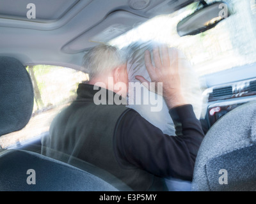
[[[170,110],[177,136],[164,135],[135,110],[129,110],[116,128],[116,158],[158,177],[192,180],[195,159],[204,138],[191,105]]]

